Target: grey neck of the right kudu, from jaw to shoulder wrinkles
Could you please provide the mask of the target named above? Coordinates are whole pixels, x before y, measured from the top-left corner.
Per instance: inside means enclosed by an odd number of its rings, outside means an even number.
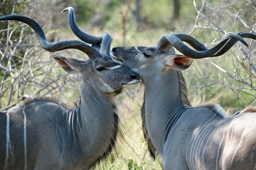
[[[166,134],[186,110],[187,104],[189,105],[183,99],[187,91],[185,84],[182,84],[185,82],[182,81],[182,73],[176,70],[163,71],[144,79],[147,131],[160,155],[163,155]]]

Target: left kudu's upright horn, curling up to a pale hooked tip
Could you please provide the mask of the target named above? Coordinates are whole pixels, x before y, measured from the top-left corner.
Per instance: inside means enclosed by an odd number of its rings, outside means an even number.
[[[75,22],[75,18],[74,18],[74,8],[72,7],[68,7],[66,9],[64,9],[61,13],[64,13],[68,11],[68,20],[69,20],[69,25],[71,30],[73,31],[73,33],[83,42],[89,43],[89,44],[101,44],[103,36],[91,36],[88,35],[84,32],[82,32],[76,22]]]

